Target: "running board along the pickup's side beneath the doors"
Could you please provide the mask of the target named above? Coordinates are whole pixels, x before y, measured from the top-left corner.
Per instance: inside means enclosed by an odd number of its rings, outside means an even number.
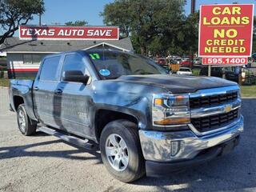
[[[94,144],[90,143],[88,139],[82,139],[82,138],[77,138],[74,136],[70,136],[67,134],[62,134],[61,132],[58,132],[57,130],[50,129],[49,127],[46,126],[40,126],[38,127],[39,131],[42,131],[43,133],[53,135],[57,138],[61,138],[62,140],[66,142],[70,142],[74,144],[75,146],[80,146],[82,148],[85,148],[86,150],[93,150]]]

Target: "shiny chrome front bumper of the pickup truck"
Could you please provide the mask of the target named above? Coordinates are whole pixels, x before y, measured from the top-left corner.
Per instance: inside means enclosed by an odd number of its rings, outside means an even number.
[[[173,162],[194,158],[202,150],[229,141],[243,131],[243,117],[235,125],[213,134],[197,136],[192,130],[161,132],[139,130],[144,158],[154,162]]]

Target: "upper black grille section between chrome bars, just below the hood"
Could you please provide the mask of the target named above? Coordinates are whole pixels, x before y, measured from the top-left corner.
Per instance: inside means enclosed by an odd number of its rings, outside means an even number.
[[[231,92],[227,94],[214,94],[206,97],[190,98],[190,109],[197,109],[207,106],[216,106],[218,104],[225,104],[233,102],[238,98],[238,92]]]

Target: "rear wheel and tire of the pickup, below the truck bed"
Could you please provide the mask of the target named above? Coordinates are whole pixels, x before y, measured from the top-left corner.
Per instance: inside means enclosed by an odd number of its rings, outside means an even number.
[[[31,120],[30,117],[26,114],[26,109],[24,104],[21,104],[18,106],[17,122],[18,122],[18,129],[22,132],[22,134],[26,136],[35,134],[37,130],[37,123]]]

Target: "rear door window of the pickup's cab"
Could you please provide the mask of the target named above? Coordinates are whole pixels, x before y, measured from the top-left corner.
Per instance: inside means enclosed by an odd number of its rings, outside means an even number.
[[[41,80],[57,81],[58,76],[58,64],[60,56],[46,58],[42,64],[42,70],[40,74]]]

